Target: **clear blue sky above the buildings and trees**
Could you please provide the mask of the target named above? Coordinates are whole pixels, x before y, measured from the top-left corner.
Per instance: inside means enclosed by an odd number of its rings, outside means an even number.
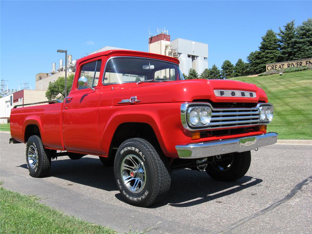
[[[1,79],[17,88],[50,72],[67,49],[78,59],[104,46],[148,51],[148,28],[207,43],[209,67],[246,61],[261,36],[312,17],[312,1],[1,1]],[[66,12],[64,14],[64,12]]]

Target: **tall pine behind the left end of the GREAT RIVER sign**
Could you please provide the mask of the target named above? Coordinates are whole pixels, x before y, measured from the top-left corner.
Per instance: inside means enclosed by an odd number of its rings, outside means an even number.
[[[276,33],[269,29],[266,31],[266,35],[262,37],[262,41],[259,46],[260,53],[260,64],[261,69],[260,72],[266,71],[267,63],[274,63],[278,61],[280,56],[280,51],[278,49],[278,39],[276,37]]]

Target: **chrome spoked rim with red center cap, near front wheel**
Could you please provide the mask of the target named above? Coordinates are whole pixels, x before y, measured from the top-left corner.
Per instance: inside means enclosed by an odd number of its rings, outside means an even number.
[[[146,170],[142,160],[128,154],[121,163],[121,177],[126,188],[132,193],[141,192],[146,184]]]

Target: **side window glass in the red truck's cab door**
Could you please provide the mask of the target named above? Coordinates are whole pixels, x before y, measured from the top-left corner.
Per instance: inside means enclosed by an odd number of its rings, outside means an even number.
[[[86,63],[82,65],[80,69],[80,77],[85,77],[88,80],[88,84],[91,87],[97,86],[100,77],[100,70],[101,70],[102,60],[93,61],[90,63]],[[78,85],[78,89],[86,89],[88,86],[80,86]]]

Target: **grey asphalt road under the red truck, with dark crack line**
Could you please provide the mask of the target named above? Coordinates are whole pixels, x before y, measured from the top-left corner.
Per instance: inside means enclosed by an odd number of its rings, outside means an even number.
[[[5,188],[35,194],[66,214],[121,233],[157,223],[150,233],[312,233],[312,146],[252,151],[249,171],[233,183],[214,181],[206,172],[174,171],[167,199],[142,208],[122,200],[113,168],[97,157],[59,157],[48,177],[32,178],[26,145],[9,145],[10,134],[0,135]]]

